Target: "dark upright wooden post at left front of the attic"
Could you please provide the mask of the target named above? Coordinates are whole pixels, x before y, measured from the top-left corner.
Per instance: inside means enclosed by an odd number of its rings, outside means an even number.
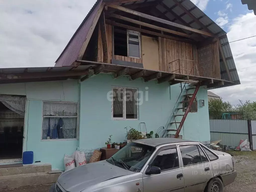
[[[102,49],[103,49],[103,63],[107,63],[108,62],[108,43],[107,43],[104,11],[102,11],[102,14],[101,14],[100,19],[99,19],[99,23],[100,23]]]

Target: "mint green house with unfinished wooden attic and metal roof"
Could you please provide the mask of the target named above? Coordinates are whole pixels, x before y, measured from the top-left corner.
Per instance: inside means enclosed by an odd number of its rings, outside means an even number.
[[[98,0],[55,67],[0,70],[1,134],[19,138],[0,163],[34,151],[61,170],[65,153],[122,142],[124,127],[183,125],[183,138],[209,143],[207,89],[240,84],[226,32],[189,0]]]

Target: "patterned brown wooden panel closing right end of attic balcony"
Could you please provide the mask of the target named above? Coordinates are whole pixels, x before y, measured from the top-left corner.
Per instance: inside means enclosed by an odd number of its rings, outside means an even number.
[[[221,79],[217,41],[198,49],[198,61],[200,76]]]

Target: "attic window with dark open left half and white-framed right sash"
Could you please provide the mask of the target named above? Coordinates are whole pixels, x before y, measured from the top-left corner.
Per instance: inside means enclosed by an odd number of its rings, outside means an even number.
[[[141,57],[140,32],[114,27],[114,54],[125,57]]]

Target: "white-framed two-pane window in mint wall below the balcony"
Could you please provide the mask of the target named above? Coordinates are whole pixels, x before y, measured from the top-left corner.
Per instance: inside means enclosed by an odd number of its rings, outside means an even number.
[[[138,119],[137,89],[113,88],[112,118]]]

